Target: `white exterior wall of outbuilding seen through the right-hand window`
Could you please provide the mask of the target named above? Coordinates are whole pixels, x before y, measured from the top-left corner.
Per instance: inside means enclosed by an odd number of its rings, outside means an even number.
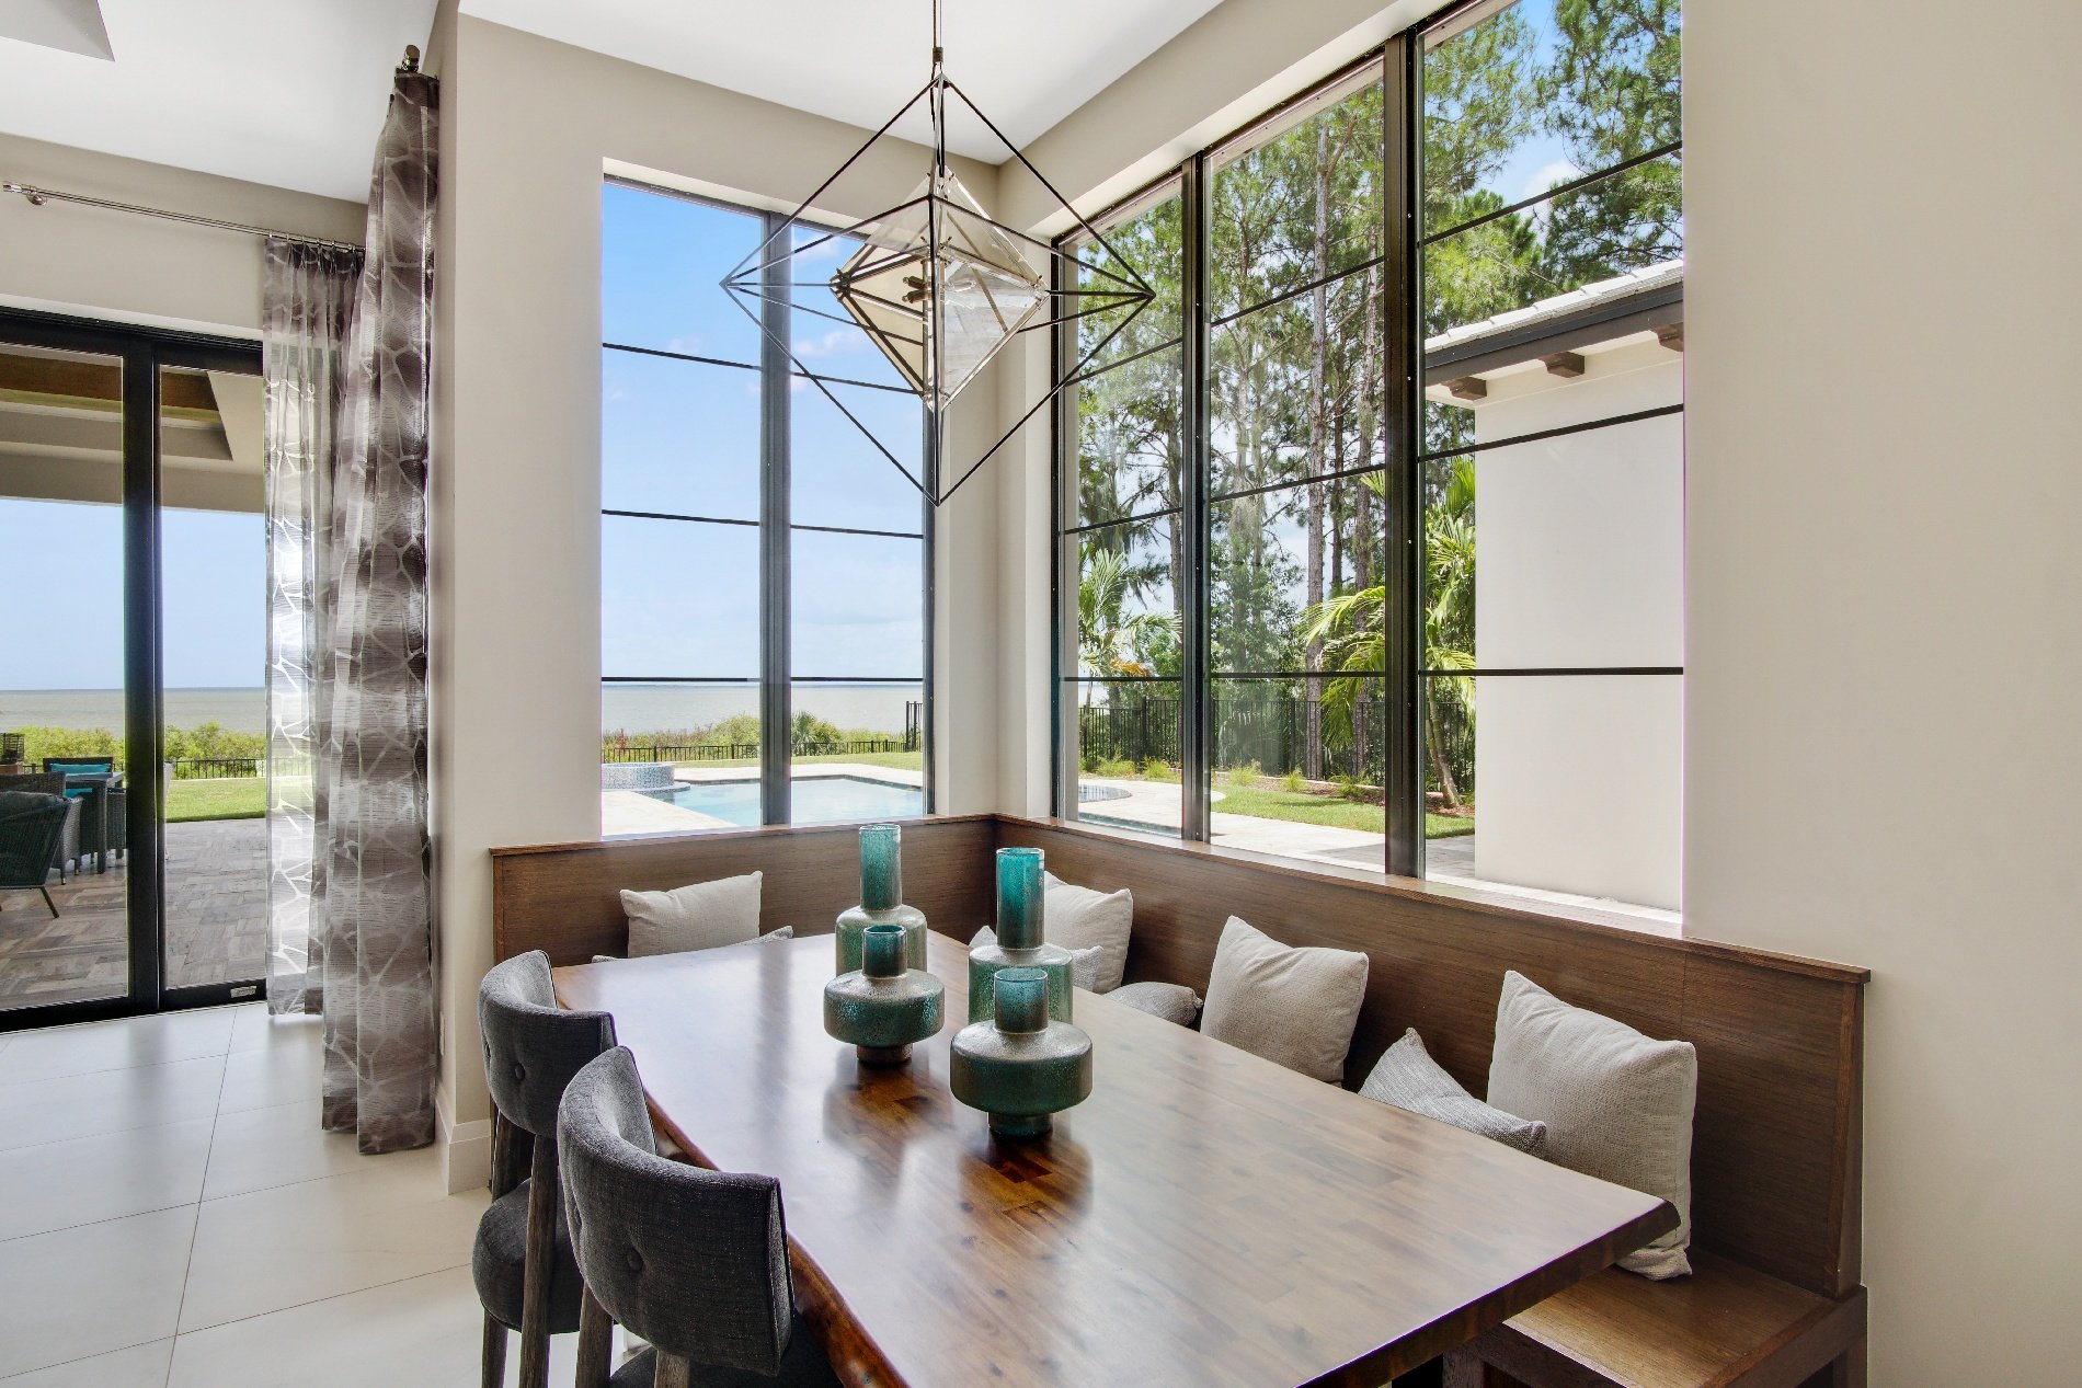
[[[1645,343],[1493,377],[1476,441],[1684,400]],[[1474,653],[1482,670],[1684,664],[1684,425],[1678,416],[1474,456]],[[1474,874],[1678,907],[1680,676],[1476,680]]]

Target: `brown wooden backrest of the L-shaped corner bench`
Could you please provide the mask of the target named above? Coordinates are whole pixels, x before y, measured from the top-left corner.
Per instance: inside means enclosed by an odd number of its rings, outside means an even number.
[[[1006,845],[1045,849],[1049,870],[1072,882],[1135,893],[1128,978],[1203,991],[1228,916],[1289,945],[1364,951],[1372,968],[1349,1086],[1414,1026],[1439,1063],[1484,1093],[1505,970],[1649,1036],[1691,1040],[1693,1238],[1826,1296],[1859,1284],[1863,970],[1006,816],[908,822],[906,897],[968,939],[991,918],[991,849]],[[498,955],[545,949],[556,963],[583,963],[623,953],[618,889],[754,868],[766,872],[766,928],[829,930],[858,897],[849,826],[500,849]]]

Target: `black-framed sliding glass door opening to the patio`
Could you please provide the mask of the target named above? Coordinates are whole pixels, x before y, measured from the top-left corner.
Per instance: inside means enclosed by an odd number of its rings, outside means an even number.
[[[260,993],[258,358],[0,312],[0,1030]]]

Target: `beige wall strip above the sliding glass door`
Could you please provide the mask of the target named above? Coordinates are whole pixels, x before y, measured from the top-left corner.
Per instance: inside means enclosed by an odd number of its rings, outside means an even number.
[[[366,214],[358,202],[17,135],[0,135],[0,177],[341,241],[362,239]],[[65,202],[33,208],[0,196],[0,304],[258,337],[260,239]]]

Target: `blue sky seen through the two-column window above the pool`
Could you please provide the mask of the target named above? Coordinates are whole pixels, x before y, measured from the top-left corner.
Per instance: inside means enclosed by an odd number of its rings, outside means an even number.
[[[608,185],[602,194],[606,341],[729,364],[602,352],[602,506],[756,520],[760,502],[762,335],[722,291],[758,250],[758,216]],[[822,281],[847,254],[797,256],[795,281]],[[895,385],[895,368],[835,312],[829,291],[799,289],[795,356],[820,375]],[[833,385],[899,460],[918,466],[920,406],[908,391]],[[920,497],[810,381],[791,391],[795,524],[920,529]],[[916,539],[793,535],[793,668],[802,676],[902,676],[922,668]],[[758,531],[681,520],[602,518],[604,674],[758,674]]]

